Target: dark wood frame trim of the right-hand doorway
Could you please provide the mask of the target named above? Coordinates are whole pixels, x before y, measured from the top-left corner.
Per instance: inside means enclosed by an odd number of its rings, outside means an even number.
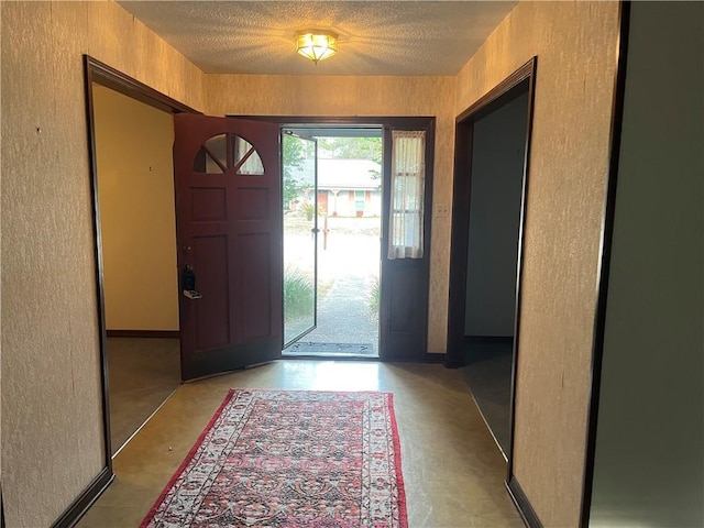
[[[532,134],[534,101],[536,92],[536,70],[538,57],[534,56],[495,88],[480,98],[455,120],[454,180],[452,190],[452,238],[450,250],[450,295],[448,298],[448,353],[446,365],[460,367],[464,364],[463,338],[466,297],[466,266],[469,250],[470,195],[472,180],[472,150],[474,123],[498,108],[525,94],[528,88],[528,121],[526,131],[524,173],[521,183],[520,218],[518,232],[518,258],[516,270],[516,304],[514,318],[514,344],[512,359],[509,436],[507,455],[506,487],[519,510],[530,516],[525,494],[513,474],[514,429],[516,408],[516,373],[518,366],[518,342],[520,331],[521,276],[524,270],[524,243],[526,231],[526,207],[528,199],[528,177],[530,167],[530,144]],[[522,86],[521,86],[522,85]],[[519,89],[520,88],[520,89]],[[535,514],[534,514],[535,515]],[[532,521],[532,519],[529,519]],[[532,525],[531,525],[532,526]],[[537,525],[536,525],[537,526]]]

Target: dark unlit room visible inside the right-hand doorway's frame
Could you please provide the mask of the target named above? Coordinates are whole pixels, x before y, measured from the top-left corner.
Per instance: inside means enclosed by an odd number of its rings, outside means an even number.
[[[463,371],[504,452],[509,437],[527,119],[526,90],[477,120],[472,139]]]

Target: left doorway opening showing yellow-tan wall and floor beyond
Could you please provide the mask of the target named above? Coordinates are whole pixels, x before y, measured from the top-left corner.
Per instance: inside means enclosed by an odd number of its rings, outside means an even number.
[[[180,384],[173,116],[92,82],[110,454]]]

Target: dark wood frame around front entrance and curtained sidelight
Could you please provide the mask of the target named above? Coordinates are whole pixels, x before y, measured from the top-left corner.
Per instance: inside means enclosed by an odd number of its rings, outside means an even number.
[[[408,355],[407,358],[389,358],[388,361],[426,361],[437,362],[438,354],[429,354],[428,346],[428,310],[429,310],[429,283],[430,283],[430,243],[432,227],[432,191],[433,191],[433,174],[435,174],[435,139],[436,139],[436,118],[432,116],[414,116],[414,117],[380,117],[380,116],[246,116],[246,114],[226,114],[226,118],[262,120],[278,123],[282,128],[299,128],[300,125],[339,125],[339,127],[378,127],[381,128],[384,142],[391,141],[388,130],[422,130],[426,132],[426,197],[424,204],[424,273],[427,278],[427,285],[422,290],[420,305],[424,312],[424,324],[418,331],[418,341],[422,343],[424,353]],[[298,125],[298,127],[297,127]],[[384,148],[384,164],[382,177],[382,241],[381,241],[381,270],[380,270],[380,334],[378,334],[378,360],[384,361],[384,346],[387,342],[385,330],[391,324],[391,308],[388,288],[384,288],[385,267],[387,267],[387,258],[384,257],[388,248],[388,185],[391,183],[391,157],[387,158],[386,153],[391,156],[391,147]]]

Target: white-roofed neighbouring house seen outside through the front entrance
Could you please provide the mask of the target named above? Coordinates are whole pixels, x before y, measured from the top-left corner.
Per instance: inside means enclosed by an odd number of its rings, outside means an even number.
[[[312,160],[293,170],[294,178],[309,174]],[[309,193],[292,204],[296,210],[309,202]],[[318,160],[318,211],[331,217],[378,217],[382,215],[382,166],[371,160]]]

